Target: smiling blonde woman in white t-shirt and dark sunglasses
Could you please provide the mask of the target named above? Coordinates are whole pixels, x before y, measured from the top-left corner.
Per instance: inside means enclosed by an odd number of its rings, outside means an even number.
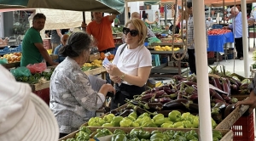
[[[147,26],[143,20],[132,19],[123,28],[126,44],[119,46],[108,65],[110,79],[115,82],[116,94],[111,102],[111,110],[125,104],[125,99],[133,99],[134,95],[145,91],[145,83],[151,71],[152,58],[148,48],[144,46]]]

